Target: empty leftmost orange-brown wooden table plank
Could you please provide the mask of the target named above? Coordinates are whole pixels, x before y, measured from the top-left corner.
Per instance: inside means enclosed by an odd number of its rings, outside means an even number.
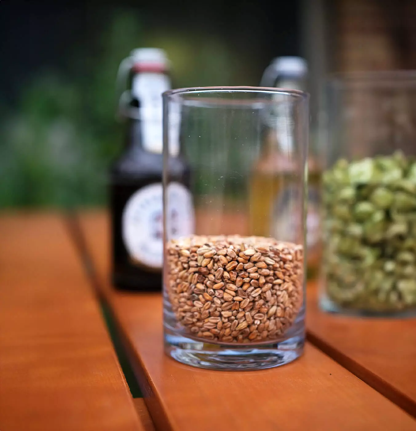
[[[0,216],[0,430],[145,429],[60,215]]]

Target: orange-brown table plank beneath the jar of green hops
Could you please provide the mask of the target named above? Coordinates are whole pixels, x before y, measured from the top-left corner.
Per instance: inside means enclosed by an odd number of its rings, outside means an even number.
[[[416,416],[416,319],[354,318],[320,311],[307,292],[309,340]]]

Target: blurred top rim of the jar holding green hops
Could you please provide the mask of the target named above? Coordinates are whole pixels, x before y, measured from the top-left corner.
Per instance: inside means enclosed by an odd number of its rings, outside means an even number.
[[[400,84],[416,84],[416,70],[376,70],[356,72],[334,72],[328,75],[327,84],[334,86],[365,85],[377,87],[379,85],[392,86]]]

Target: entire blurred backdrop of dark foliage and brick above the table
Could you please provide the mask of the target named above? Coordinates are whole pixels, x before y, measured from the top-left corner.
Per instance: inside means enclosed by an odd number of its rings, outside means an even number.
[[[0,208],[106,203],[115,78],[137,47],[166,50],[173,87],[258,85],[303,56],[318,149],[328,72],[416,67],[416,2],[0,0]]]

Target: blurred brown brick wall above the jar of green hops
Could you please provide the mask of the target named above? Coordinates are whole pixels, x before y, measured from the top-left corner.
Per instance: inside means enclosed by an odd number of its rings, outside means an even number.
[[[337,69],[416,69],[416,1],[338,0]]]

